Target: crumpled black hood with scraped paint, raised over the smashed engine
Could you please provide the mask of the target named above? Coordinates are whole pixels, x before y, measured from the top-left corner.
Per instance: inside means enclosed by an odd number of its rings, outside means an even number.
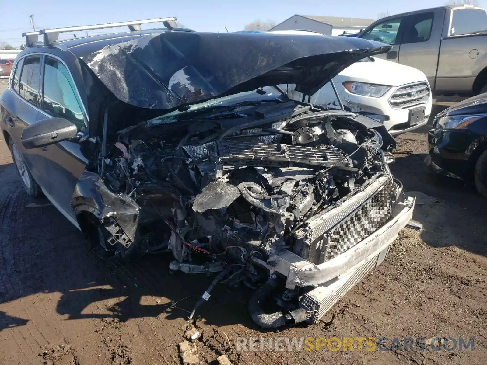
[[[168,31],[83,61],[119,100],[170,111],[268,85],[313,94],[357,60],[390,49],[351,37]]]

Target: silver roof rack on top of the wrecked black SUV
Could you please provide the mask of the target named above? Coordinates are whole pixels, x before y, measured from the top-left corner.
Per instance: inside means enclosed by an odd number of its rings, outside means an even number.
[[[43,35],[44,44],[48,46],[51,45],[59,38],[59,33],[80,32],[80,31],[88,31],[94,29],[117,28],[117,27],[124,27],[124,26],[128,26],[131,32],[135,32],[141,30],[140,29],[141,24],[158,23],[158,22],[162,22],[164,26],[168,29],[173,29],[176,27],[176,20],[177,18],[175,17],[169,17],[169,18],[121,21],[118,23],[82,25],[79,27],[41,29],[38,32],[22,33],[22,37],[25,37],[25,46],[31,47],[35,42],[37,42],[37,40],[39,39],[39,35]]]

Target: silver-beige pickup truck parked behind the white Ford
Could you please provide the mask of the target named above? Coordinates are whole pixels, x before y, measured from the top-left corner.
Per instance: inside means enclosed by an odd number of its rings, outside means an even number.
[[[426,74],[435,94],[487,92],[487,14],[451,5],[377,20],[356,37],[393,45],[377,55]]]

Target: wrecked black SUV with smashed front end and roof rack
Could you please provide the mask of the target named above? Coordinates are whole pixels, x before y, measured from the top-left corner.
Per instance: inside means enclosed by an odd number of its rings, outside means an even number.
[[[140,31],[154,20],[166,28]],[[174,20],[67,41],[59,32],[83,27],[25,34],[1,95],[24,188],[100,255],[171,252],[171,270],[256,289],[263,328],[316,323],[384,260],[414,199],[391,175],[382,124],[306,100],[390,46]],[[262,310],[271,296],[281,311]]]

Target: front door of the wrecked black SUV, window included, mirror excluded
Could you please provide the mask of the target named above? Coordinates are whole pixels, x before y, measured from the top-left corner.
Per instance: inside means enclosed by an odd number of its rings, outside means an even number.
[[[44,118],[65,118],[83,133],[88,123],[73,77],[64,62],[46,55],[41,80],[41,113]],[[66,218],[76,222],[71,200],[76,183],[88,164],[86,151],[91,151],[93,142],[63,141],[42,148],[43,176],[38,182],[46,196]]]

